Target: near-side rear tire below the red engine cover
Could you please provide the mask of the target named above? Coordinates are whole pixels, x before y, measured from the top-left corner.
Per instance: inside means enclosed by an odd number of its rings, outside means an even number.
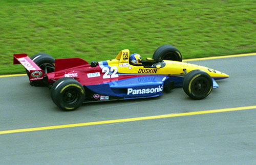
[[[69,77],[58,79],[51,89],[53,102],[65,111],[73,111],[84,101],[86,92],[77,80]]]

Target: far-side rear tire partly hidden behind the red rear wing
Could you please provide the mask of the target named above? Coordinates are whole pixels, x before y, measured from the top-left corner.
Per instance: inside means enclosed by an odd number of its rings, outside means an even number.
[[[34,54],[30,59],[34,61],[39,68],[44,70],[45,73],[54,72],[55,70],[55,59],[47,53]],[[27,74],[29,76],[28,71]]]

